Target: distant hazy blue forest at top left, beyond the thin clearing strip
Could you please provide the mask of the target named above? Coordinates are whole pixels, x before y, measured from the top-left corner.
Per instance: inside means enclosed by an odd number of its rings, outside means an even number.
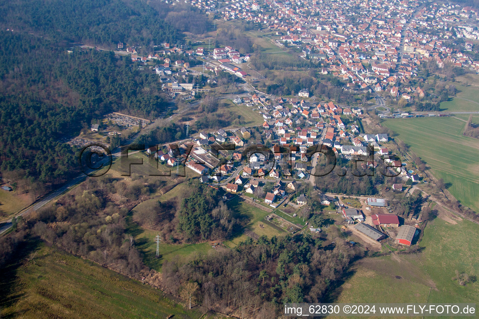
[[[52,41],[82,42],[114,48],[118,42],[138,45],[181,42],[178,31],[142,0],[4,1],[3,30],[32,32]]]

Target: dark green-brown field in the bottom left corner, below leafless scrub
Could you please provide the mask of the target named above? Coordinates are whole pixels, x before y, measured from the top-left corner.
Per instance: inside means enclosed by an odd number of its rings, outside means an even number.
[[[160,290],[43,243],[3,269],[1,318],[200,318]]]

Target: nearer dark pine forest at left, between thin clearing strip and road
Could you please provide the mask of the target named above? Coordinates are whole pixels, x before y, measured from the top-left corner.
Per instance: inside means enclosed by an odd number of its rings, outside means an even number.
[[[25,178],[61,183],[78,172],[60,138],[92,119],[121,111],[157,117],[168,106],[157,77],[113,52],[60,47],[46,39],[0,32],[0,167]],[[34,63],[32,63],[34,57]]]

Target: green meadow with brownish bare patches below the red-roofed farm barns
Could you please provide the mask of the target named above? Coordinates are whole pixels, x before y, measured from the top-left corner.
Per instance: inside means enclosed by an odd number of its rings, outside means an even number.
[[[473,253],[479,245],[479,225],[456,218],[431,221],[417,254],[367,257],[331,296],[334,302],[470,303],[479,299],[479,283],[460,286],[455,271],[479,275]],[[468,240],[465,241],[464,239]]]

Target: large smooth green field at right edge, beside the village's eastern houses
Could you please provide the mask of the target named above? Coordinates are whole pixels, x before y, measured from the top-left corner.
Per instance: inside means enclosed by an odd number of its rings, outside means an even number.
[[[450,118],[391,119],[383,122],[398,133],[443,178],[447,189],[463,205],[479,211],[479,140],[463,136],[465,121]]]

